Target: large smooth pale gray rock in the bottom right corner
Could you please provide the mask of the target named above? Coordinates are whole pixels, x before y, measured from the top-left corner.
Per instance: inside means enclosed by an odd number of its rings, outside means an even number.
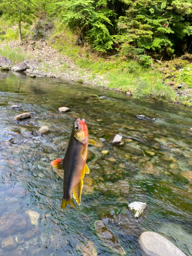
[[[139,244],[148,256],[186,256],[172,242],[155,232],[143,232]]]

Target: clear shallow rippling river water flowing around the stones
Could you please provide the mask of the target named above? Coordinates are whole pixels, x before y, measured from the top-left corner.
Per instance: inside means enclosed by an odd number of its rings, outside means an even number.
[[[22,108],[13,110],[13,104]],[[60,106],[71,111],[60,114]],[[32,117],[14,121],[24,112]],[[141,114],[157,120],[137,119]],[[0,73],[0,224],[5,216],[26,223],[0,227],[0,243],[17,237],[14,247],[2,246],[1,255],[19,248],[22,255],[119,255],[100,239],[96,221],[104,223],[126,255],[145,255],[138,244],[143,231],[158,232],[192,255],[191,114],[178,104]],[[84,178],[81,205],[62,212],[62,178],[50,162],[65,155],[77,117],[86,119],[97,144],[89,147],[90,174]],[[50,133],[37,136],[43,125]],[[118,133],[133,140],[112,145],[110,136]],[[127,209],[134,201],[148,206],[139,221]],[[40,215],[38,226],[28,210]]]

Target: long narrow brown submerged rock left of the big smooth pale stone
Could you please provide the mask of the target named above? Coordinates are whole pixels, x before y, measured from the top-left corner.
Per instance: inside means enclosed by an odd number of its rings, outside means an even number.
[[[124,255],[126,254],[122,246],[119,244],[117,238],[114,234],[105,226],[102,221],[95,222],[95,229],[97,232],[98,237],[104,243],[105,246],[109,247],[113,251]]]

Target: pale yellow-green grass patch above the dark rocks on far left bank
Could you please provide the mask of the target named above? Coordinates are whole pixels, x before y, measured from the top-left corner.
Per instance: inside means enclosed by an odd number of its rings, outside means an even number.
[[[13,65],[23,62],[25,59],[34,59],[31,53],[25,52],[20,47],[11,48],[10,46],[4,46],[0,48],[0,55],[10,59]]]

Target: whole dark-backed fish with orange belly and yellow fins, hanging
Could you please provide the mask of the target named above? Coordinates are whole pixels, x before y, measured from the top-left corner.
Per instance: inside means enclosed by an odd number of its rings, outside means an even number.
[[[77,118],[73,125],[64,159],[57,159],[51,162],[54,168],[64,170],[61,203],[63,211],[68,204],[76,209],[73,198],[80,205],[83,178],[85,174],[90,173],[89,167],[86,164],[88,144],[95,145],[95,141],[89,139],[86,121]]]

